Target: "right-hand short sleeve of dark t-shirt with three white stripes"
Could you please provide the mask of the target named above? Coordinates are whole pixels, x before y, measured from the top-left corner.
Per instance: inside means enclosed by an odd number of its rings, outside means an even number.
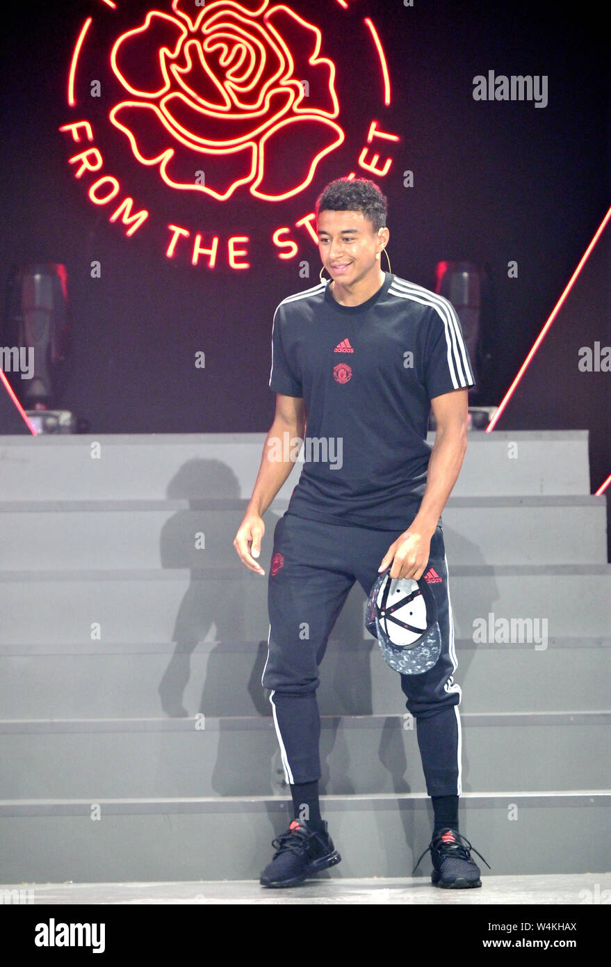
[[[438,296],[430,309],[424,381],[429,399],[476,385],[458,316],[443,296]]]

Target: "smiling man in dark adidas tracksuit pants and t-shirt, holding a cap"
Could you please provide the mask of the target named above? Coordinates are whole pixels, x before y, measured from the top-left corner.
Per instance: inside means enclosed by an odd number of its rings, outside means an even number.
[[[368,595],[378,572],[392,565],[391,577],[418,580],[431,573],[442,637],[433,668],[400,676],[435,817],[428,847],[432,880],[478,887],[473,847],[458,833],[461,693],[452,678],[456,659],[440,525],[467,446],[472,370],[451,304],[382,271],[389,229],[387,199],[377,186],[338,179],[320,195],[316,216],[331,280],[276,308],[270,376],[276,415],[234,540],[247,568],[264,574],[256,561],[263,514],[296,458],[294,446],[280,454],[277,444],[303,439],[307,422],[306,444],[316,441],[317,449],[309,448],[309,459],[306,450],[299,484],[276,523],[263,673],[295,818],[274,841],[276,854],[261,884],[296,886],[340,861],[318,796],[318,665],[355,581]],[[437,423],[432,452],[425,441],[431,407]]]

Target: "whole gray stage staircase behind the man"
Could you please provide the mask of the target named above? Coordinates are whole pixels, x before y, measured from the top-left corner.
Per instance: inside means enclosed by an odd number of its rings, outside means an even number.
[[[291,818],[260,577],[264,434],[0,437],[0,882],[258,878]],[[611,869],[611,565],[588,434],[474,431],[443,514],[462,832],[494,874]],[[333,877],[430,838],[414,721],[357,584],[322,665]],[[485,867],[484,871],[485,871]],[[426,857],[419,874],[428,876]]]

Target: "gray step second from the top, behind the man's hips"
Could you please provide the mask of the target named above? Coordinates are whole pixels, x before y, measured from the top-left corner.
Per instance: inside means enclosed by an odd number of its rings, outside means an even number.
[[[222,499],[4,501],[0,570],[230,567],[246,506]],[[265,515],[268,547],[286,506],[276,500]],[[443,526],[450,563],[607,562],[604,496],[451,497]]]

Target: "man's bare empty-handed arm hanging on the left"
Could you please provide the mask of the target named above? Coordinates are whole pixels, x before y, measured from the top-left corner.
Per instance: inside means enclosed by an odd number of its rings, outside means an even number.
[[[263,568],[254,560],[255,557],[259,556],[261,540],[265,534],[263,514],[267,511],[276,497],[276,493],[293,469],[295,460],[291,459],[291,453],[294,452],[295,448],[292,446],[292,440],[295,437],[303,439],[305,426],[306,404],[304,399],[298,396],[276,394],[274,423],[271,425],[263,445],[259,473],[254,482],[252,496],[248,501],[247,512],[233,542],[242,563],[250,571],[255,571],[257,574],[265,574]],[[288,450],[283,446],[284,433],[288,433]],[[276,453],[279,449],[281,458],[270,459],[272,447],[276,441],[279,442],[279,448],[276,446]],[[272,447],[270,444],[272,444]]]

